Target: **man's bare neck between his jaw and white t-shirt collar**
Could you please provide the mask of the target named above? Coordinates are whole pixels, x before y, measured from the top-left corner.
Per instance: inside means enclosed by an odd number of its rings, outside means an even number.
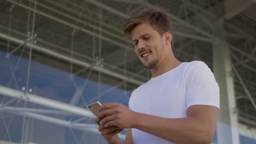
[[[166,73],[179,66],[182,62],[178,61],[173,55],[162,59],[159,64],[154,68],[150,69],[152,77],[157,77],[161,74]]]

